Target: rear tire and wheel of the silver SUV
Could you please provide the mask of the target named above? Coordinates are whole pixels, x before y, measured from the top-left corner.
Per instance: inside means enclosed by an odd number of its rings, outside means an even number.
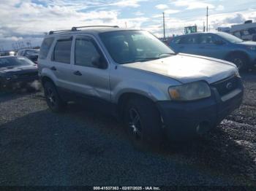
[[[44,90],[46,102],[49,108],[53,112],[63,112],[66,103],[59,97],[59,93],[57,92],[55,85],[53,85],[52,82],[45,82]]]

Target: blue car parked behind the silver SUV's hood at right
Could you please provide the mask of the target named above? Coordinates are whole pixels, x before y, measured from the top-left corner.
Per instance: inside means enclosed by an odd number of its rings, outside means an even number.
[[[235,63],[238,69],[256,66],[256,42],[244,42],[223,32],[176,36],[171,40],[170,47],[176,52],[230,61]]]

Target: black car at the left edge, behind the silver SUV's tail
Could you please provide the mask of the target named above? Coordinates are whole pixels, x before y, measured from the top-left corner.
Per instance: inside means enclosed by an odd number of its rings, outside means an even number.
[[[26,57],[0,57],[0,90],[5,87],[27,87],[38,79],[37,65]]]

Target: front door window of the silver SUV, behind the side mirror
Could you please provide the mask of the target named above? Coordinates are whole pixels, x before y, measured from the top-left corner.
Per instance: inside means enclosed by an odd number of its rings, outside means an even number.
[[[92,62],[97,59],[103,59],[103,55],[93,39],[87,37],[75,39],[75,65],[95,67]]]

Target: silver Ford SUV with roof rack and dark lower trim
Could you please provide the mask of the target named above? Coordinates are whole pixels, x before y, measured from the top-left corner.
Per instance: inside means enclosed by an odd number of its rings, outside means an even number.
[[[39,77],[53,112],[78,98],[107,106],[136,145],[205,133],[244,92],[233,63],[176,54],[147,31],[116,26],[50,31]]]

